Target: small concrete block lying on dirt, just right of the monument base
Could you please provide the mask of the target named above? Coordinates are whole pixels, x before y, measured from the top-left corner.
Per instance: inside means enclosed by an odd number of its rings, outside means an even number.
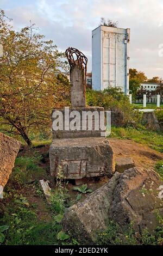
[[[119,173],[123,173],[124,170],[135,167],[134,160],[131,157],[116,157],[115,163],[115,170]]]

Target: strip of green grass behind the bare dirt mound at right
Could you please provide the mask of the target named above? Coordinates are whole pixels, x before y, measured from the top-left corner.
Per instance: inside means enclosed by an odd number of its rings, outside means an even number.
[[[141,127],[111,127],[111,137],[118,139],[132,139],[135,142],[148,145],[156,151],[163,152],[163,133],[147,131]]]

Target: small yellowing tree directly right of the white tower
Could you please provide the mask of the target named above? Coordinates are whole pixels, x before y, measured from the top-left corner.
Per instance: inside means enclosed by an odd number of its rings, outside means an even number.
[[[140,89],[141,83],[145,81],[147,81],[147,77],[144,72],[129,69],[129,90],[134,98]]]

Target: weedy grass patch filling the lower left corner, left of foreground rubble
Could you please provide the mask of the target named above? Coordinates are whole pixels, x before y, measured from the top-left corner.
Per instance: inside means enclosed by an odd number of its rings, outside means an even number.
[[[19,156],[12,170],[10,180],[5,186],[4,199],[0,202],[0,227],[8,225],[4,231],[4,245],[73,245],[77,240],[71,239],[62,231],[58,214],[64,214],[67,206],[67,192],[55,189],[52,206],[48,206],[39,188],[38,180],[45,170],[40,167],[42,157],[35,151],[33,157]],[[27,195],[26,196],[24,196]],[[61,196],[62,194],[62,196]],[[35,198],[31,203],[29,198]],[[61,200],[62,199],[62,200]],[[43,203],[44,219],[38,215],[38,204]],[[54,202],[55,201],[55,202]],[[47,216],[48,208],[51,216]],[[47,219],[46,219],[47,217]],[[0,242],[1,245],[1,242]]]

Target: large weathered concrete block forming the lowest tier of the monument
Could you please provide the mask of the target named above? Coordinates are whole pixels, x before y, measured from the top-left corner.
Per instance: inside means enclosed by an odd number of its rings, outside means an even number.
[[[115,172],[114,153],[103,137],[54,139],[49,148],[51,175],[59,167],[66,179],[83,179]]]

